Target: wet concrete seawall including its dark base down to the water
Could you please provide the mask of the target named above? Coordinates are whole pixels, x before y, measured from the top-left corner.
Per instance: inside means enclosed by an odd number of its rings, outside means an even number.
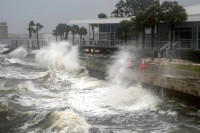
[[[89,74],[91,76],[95,76],[101,79],[105,78],[109,64],[86,59],[80,59],[80,62],[82,66],[85,66],[89,70]],[[198,101],[200,99],[199,79],[167,76],[162,74],[138,71],[135,69],[129,69],[125,73],[125,77],[127,79],[143,83],[144,85],[146,84],[148,86],[153,86],[154,88],[158,87],[162,89],[162,93],[164,91],[166,95],[175,99],[179,97],[179,99],[183,98],[194,103],[197,99]],[[161,93],[161,90],[157,91]],[[200,107],[200,103],[198,103],[198,101],[196,101],[195,104],[198,104],[198,106]]]

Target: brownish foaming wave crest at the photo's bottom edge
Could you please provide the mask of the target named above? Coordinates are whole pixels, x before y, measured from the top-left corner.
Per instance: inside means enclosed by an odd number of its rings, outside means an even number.
[[[78,114],[67,110],[47,113],[42,119],[40,116],[34,122],[27,122],[21,127],[23,130],[31,128],[35,128],[32,130],[34,132],[43,133],[88,133],[89,124]]]

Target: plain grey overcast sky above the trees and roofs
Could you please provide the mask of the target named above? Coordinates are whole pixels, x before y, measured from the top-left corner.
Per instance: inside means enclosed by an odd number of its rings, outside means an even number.
[[[0,0],[0,22],[8,23],[9,33],[28,33],[31,20],[43,24],[41,32],[50,33],[58,23],[74,19],[110,16],[119,0]],[[164,0],[161,0],[164,1]],[[200,4],[200,0],[177,0],[181,5]]]

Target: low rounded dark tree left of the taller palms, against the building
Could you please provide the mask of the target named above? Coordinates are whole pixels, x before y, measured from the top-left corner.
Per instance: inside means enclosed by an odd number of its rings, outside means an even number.
[[[116,28],[116,36],[118,37],[118,39],[124,40],[125,43],[127,42],[128,37],[131,34],[130,25],[130,21],[123,20]]]

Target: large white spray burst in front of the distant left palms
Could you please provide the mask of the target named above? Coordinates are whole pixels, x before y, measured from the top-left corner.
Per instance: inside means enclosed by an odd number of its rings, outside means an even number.
[[[36,61],[40,67],[51,70],[66,70],[69,72],[79,69],[78,48],[69,42],[52,42],[36,52]]]

